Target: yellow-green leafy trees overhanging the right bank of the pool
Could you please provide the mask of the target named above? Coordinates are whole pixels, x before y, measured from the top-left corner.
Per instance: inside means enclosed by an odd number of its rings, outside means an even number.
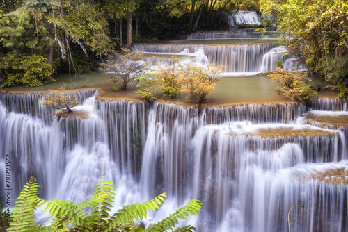
[[[344,0],[260,0],[265,15],[276,13],[290,52],[328,83],[348,87],[348,4]],[[298,40],[290,40],[296,35]],[[333,65],[334,64],[334,65]]]

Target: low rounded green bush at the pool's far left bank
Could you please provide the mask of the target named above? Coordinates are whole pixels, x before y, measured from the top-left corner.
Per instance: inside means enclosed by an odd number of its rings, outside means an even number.
[[[12,60],[6,62],[11,65],[13,73],[6,76],[3,86],[40,86],[48,81],[54,81],[52,78],[54,69],[47,63],[47,58],[42,56],[26,56],[23,60],[12,57]]]

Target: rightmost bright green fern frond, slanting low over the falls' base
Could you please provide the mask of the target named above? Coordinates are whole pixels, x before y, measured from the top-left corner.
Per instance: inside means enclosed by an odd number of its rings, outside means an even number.
[[[191,215],[197,215],[198,211],[202,208],[202,203],[197,199],[193,199],[187,202],[187,205],[179,208],[175,213],[171,214],[169,217],[164,218],[161,222],[153,224],[146,232],[150,231],[166,231],[168,229],[173,229],[174,226],[179,222],[178,219],[187,219]]]

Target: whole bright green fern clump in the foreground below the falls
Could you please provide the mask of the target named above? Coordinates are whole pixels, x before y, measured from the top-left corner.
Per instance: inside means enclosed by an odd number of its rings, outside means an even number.
[[[165,193],[146,201],[143,204],[125,205],[117,213],[110,214],[115,191],[111,181],[105,179],[104,173],[97,183],[93,197],[86,201],[74,203],[72,201],[45,201],[38,198],[38,184],[31,177],[24,185],[16,201],[12,222],[8,232],[16,231],[167,231],[178,223],[178,219],[187,219],[189,215],[197,215],[202,203],[193,199],[186,206],[175,213],[152,224],[145,230],[139,226],[137,220],[147,217],[150,210],[156,211],[166,197]],[[49,226],[35,224],[34,210],[40,206],[45,208],[53,218]],[[90,212],[90,213],[87,213]],[[196,231],[193,226],[183,226],[175,231]]]

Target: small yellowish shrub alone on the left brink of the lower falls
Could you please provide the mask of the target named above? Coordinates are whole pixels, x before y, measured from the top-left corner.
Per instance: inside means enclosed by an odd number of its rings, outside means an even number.
[[[79,100],[75,95],[70,96],[69,94],[63,93],[65,90],[66,84],[63,83],[63,86],[59,90],[49,90],[50,94],[45,97],[42,105],[46,107],[52,107],[57,110],[67,111],[68,113],[72,112],[72,107],[77,106]]]

